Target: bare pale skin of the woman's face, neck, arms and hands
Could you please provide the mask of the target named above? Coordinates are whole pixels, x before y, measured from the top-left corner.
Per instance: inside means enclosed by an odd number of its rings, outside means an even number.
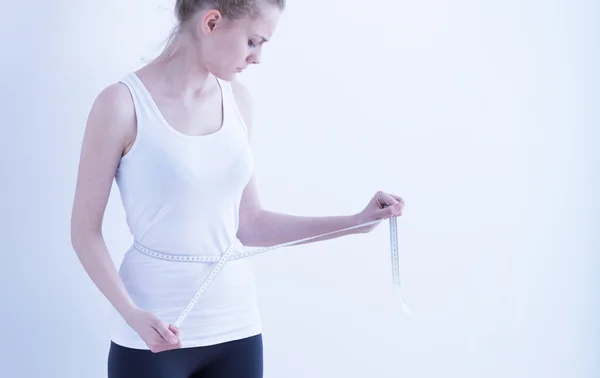
[[[222,114],[214,75],[232,83],[236,103],[251,139],[251,97],[235,76],[240,69],[260,62],[261,49],[272,36],[279,15],[276,7],[265,6],[259,17],[231,24],[216,10],[201,10],[182,28],[171,54],[137,72],[172,127],[188,135],[206,135],[218,130]],[[119,83],[108,86],[97,96],[86,124],[72,210],[71,240],[94,284],[150,350],[157,353],[181,348],[181,331],[132,302],[102,234],[115,172],[121,157],[129,152],[136,132],[135,110],[129,91]],[[352,215],[301,217],[282,214],[263,208],[256,179],[252,177],[242,194],[237,236],[246,246],[277,245],[400,216],[403,207],[402,198],[379,191],[362,211]],[[377,224],[304,243],[367,233]]]

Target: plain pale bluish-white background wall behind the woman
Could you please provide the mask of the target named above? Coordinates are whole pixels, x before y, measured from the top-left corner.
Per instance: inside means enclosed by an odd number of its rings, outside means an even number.
[[[169,2],[4,2],[0,371],[105,377],[108,302],[70,246],[98,92],[151,57]],[[404,292],[387,223],[253,258],[266,378],[600,375],[600,124],[593,1],[290,1],[255,103],[264,205],[405,198]],[[105,237],[131,237],[116,188]]]

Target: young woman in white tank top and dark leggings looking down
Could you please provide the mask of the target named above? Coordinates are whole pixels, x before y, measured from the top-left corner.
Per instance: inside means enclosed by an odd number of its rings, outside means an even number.
[[[236,243],[274,246],[365,233],[402,212],[402,199],[384,192],[351,216],[262,208],[249,143],[250,96],[235,77],[260,62],[283,9],[284,0],[178,0],[179,24],[163,54],[105,88],[92,106],[71,232],[83,267],[119,314],[109,378],[262,377],[247,259],[222,267],[181,328],[173,321],[215,264],[179,260],[218,261]],[[113,179],[135,238],[119,270],[102,236]]]

